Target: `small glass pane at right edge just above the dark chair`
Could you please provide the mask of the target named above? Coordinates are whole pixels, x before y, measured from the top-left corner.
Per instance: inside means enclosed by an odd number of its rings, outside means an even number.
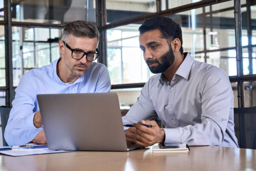
[[[256,106],[256,81],[244,82],[244,107]]]

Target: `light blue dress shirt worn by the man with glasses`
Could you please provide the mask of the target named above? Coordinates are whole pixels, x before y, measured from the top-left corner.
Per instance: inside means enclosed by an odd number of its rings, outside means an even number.
[[[15,99],[5,130],[9,146],[29,143],[44,127],[36,128],[33,123],[39,110],[36,95],[57,93],[100,93],[109,92],[111,81],[105,65],[92,62],[87,72],[73,84],[64,83],[56,73],[58,59],[51,64],[25,73],[15,89]]]

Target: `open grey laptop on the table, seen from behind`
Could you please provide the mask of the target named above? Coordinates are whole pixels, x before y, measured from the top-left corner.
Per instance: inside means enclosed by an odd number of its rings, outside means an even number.
[[[37,95],[51,150],[128,151],[116,93]]]

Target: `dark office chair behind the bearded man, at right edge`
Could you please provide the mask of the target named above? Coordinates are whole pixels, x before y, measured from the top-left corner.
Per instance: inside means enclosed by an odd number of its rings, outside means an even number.
[[[256,107],[234,108],[234,123],[239,147],[256,149]]]

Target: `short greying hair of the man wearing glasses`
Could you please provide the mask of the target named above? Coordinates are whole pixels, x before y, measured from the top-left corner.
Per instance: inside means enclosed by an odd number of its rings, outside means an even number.
[[[68,37],[73,35],[75,37],[87,36],[89,38],[97,37],[99,41],[99,31],[95,25],[86,21],[73,21],[64,26],[61,41],[68,43]]]

